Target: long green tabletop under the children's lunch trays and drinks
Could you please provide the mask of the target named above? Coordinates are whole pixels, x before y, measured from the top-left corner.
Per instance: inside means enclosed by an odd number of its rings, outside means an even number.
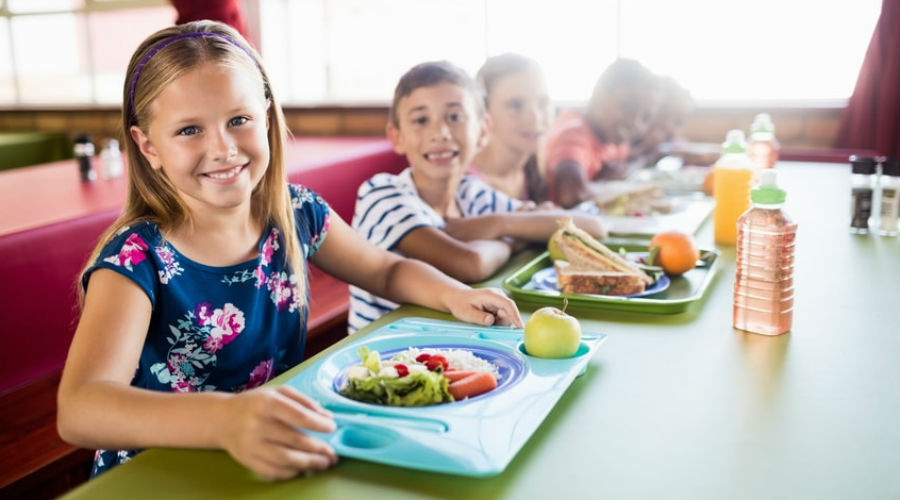
[[[848,166],[778,168],[799,223],[793,330],[732,329],[729,247],[684,313],[580,314],[609,339],[498,476],[342,459],[271,483],[221,451],[149,450],[65,498],[898,498],[900,242],[849,234]],[[447,318],[405,306],[373,326],[405,316]]]

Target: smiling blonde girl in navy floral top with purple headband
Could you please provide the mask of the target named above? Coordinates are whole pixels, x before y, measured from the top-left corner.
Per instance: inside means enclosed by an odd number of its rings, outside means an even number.
[[[128,197],[82,275],[58,397],[59,433],[99,449],[95,474],[147,447],[224,449],[266,478],[335,463],[298,430],[333,431],[329,412],[260,387],[302,360],[307,260],[396,302],[521,325],[495,290],[377,249],[286,183],[284,118],[233,29],[199,21],[147,38],[122,118]]]

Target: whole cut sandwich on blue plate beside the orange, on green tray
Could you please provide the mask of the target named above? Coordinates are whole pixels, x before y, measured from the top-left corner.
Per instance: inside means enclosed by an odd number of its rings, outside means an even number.
[[[559,221],[552,240],[565,260],[555,260],[557,287],[563,293],[631,295],[643,292],[653,278],[572,223]]]

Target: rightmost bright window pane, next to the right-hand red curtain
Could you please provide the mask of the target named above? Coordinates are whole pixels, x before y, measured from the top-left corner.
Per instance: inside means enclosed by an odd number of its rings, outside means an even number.
[[[880,11],[880,0],[629,0],[622,53],[697,99],[846,99]]]

